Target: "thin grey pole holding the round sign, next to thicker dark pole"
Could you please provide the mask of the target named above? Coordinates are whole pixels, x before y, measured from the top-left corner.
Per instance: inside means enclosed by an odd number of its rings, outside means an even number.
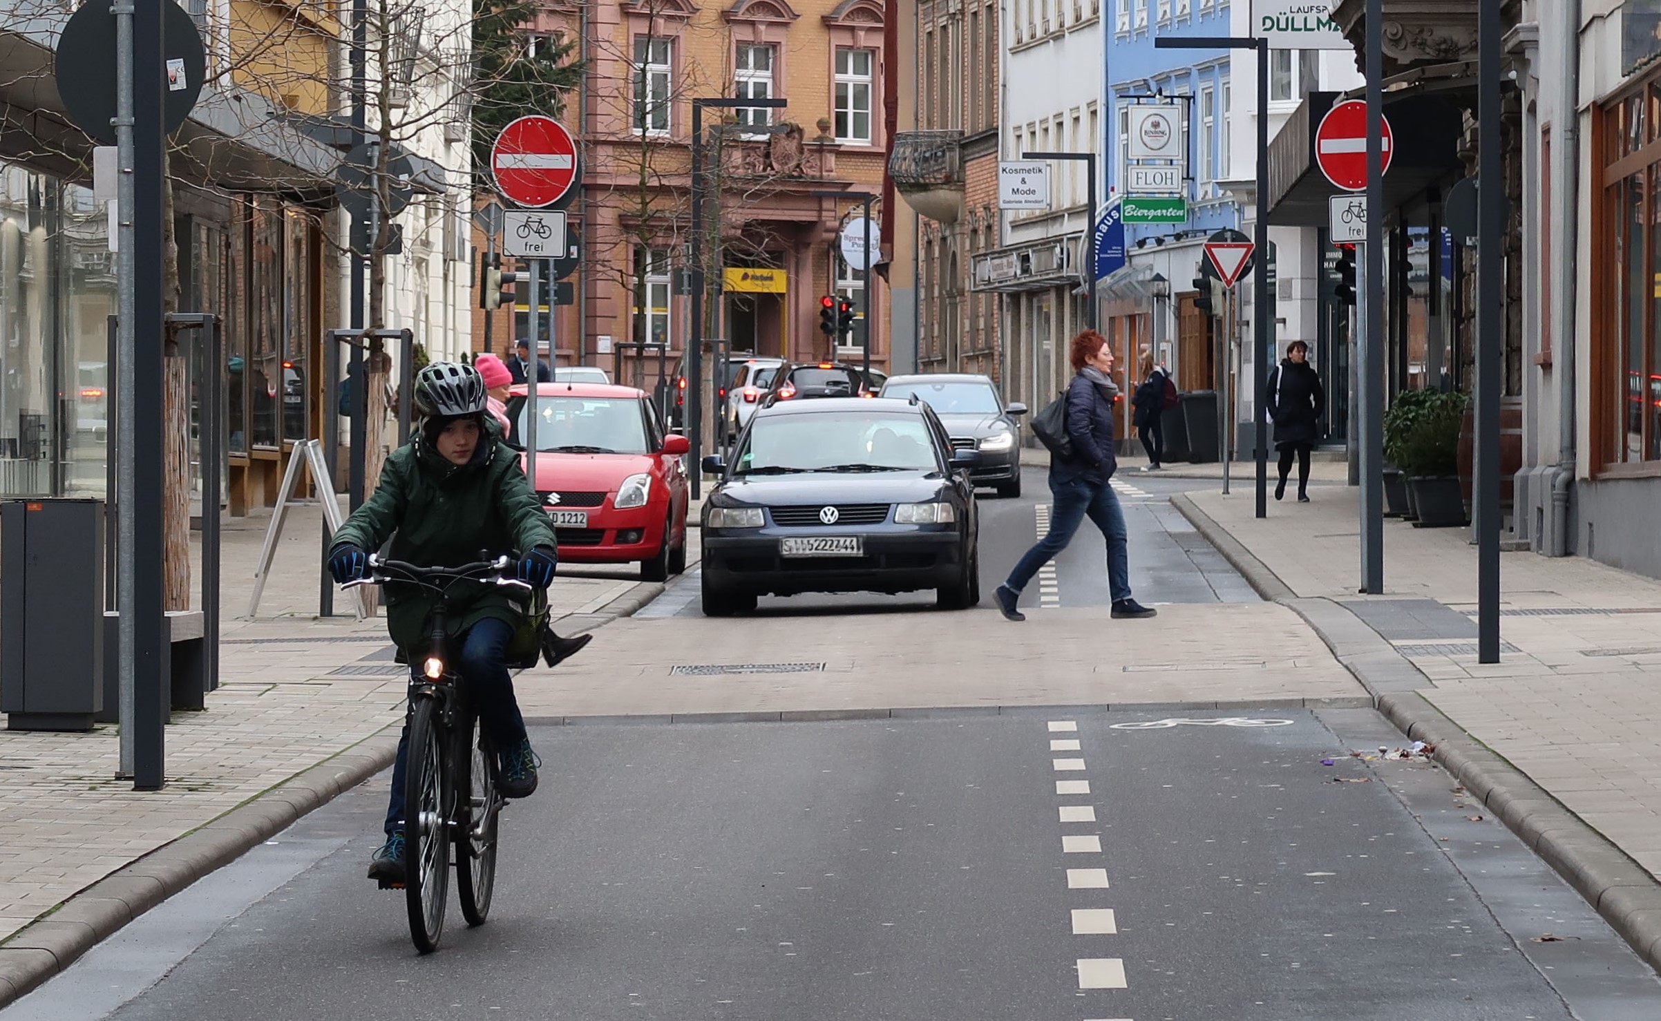
[[[116,181],[116,272],[120,274],[120,309],[116,312],[115,355],[116,364],[116,601],[120,614],[116,621],[116,642],[120,662],[116,664],[116,681],[120,691],[118,719],[121,721],[121,762],[118,779],[133,777],[133,749],[136,729],[133,725],[133,687],[135,687],[135,654],[136,633],[133,631],[133,593],[135,593],[135,541],[133,541],[133,493],[138,488],[138,476],[133,473],[133,442],[138,435],[138,420],[133,417],[131,393],[135,390],[135,324],[138,317],[135,277],[138,261],[135,257],[133,237],[133,3],[116,0],[110,8],[115,12],[115,63],[116,63],[116,163],[120,174]]]

